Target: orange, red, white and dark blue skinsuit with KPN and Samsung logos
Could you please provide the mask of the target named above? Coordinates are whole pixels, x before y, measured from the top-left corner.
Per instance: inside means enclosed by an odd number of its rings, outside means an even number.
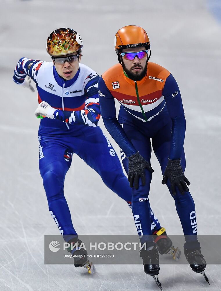
[[[140,155],[150,162],[152,148],[162,173],[165,171],[168,157],[181,158],[183,171],[185,170],[184,109],[177,82],[168,70],[148,62],[146,76],[141,81],[133,81],[127,77],[121,64],[117,64],[100,77],[98,93],[104,125],[125,153],[122,156],[126,172],[126,157],[139,151]],[[121,104],[118,120],[114,99]],[[145,170],[145,178],[145,186],[140,180],[139,188],[136,190],[133,187],[132,195],[132,211],[136,226],[137,221],[140,221],[137,231],[141,241],[142,236],[143,241],[147,241],[145,235],[151,235],[148,195],[152,173]],[[167,186],[171,193],[169,181]],[[177,189],[177,195],[173,198],[184,235],[194,235],[186,237],[186,240],[197,240],[196,220],[193,223],[191,219],[195,217],[195,205],[190,192],[182,195]]]

